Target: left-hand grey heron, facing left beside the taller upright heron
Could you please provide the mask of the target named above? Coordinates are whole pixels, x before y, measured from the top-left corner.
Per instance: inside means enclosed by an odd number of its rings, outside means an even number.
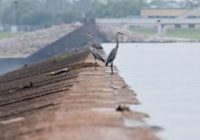
[[[93,40],[93,37],[91,34],[88,33],[87,35],[90,38],[90,41]],[[103,49],[103,47],[101,46],[100,43],[95,43],[95,42],[89,43],[89,45],[90,45],[90,51],[95,59],[95,70],[96,70],[97,59],[105,63],[104,57],[99,52],[99,50]]]

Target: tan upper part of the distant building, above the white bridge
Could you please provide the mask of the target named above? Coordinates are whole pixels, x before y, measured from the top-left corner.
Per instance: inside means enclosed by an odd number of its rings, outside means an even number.
[[[184,9],[184,8],[144,8],[141,10],[141,17],[143,18],[199,18],[199,9]]]

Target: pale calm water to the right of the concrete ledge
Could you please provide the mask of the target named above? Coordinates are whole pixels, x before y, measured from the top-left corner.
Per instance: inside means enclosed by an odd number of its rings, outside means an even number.
[[[120,44],[114,64],[163,140],[200,139],[200,43]]]

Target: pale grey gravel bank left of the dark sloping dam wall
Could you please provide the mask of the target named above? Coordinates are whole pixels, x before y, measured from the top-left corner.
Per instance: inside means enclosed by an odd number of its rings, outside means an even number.
[[[0,58],[24,58],[77,29],[79,25],[62,24],[24,33],[0,41]]]

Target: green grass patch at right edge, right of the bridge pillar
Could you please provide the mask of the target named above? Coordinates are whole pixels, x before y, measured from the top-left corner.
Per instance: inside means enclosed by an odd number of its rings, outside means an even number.
[[[168,29],[166,36],[200,40],[200,29]]]

